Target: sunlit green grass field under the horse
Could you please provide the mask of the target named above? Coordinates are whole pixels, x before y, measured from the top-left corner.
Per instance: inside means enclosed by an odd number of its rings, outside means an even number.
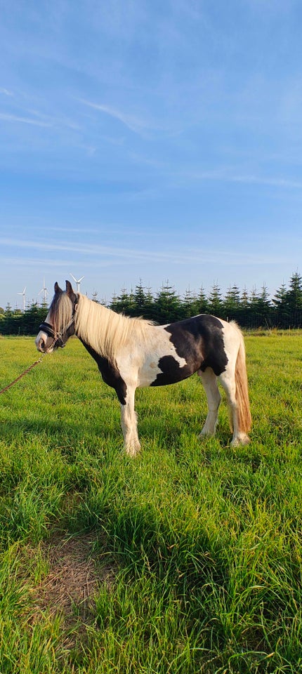
[[[301,333],[246,337],[252,442],[197,376],[137,392],[77,340],[0,397],[1,674],[302,672]],[[37,359],[1,338],[0,388]]]

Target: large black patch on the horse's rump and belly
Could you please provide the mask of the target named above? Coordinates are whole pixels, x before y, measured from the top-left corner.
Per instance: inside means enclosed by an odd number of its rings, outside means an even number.
[[[171,323],[164,329],[171,334],[170,341],[186,364],[180,367],[173,356],[162,357],[158,364],[162,372],[152,386],[181,381],[197,370],[204,372],[207,367],[211,367],[216,376],[225,371],[228,357],[223,343],[223,324],[218,318],[200,314]]]

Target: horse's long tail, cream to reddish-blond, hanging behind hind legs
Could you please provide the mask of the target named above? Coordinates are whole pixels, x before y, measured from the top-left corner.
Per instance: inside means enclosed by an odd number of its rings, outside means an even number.
[[[239,329],[238,329],[239,331]],[[240,343],[235,366],[236,402],[239,432],[248,433],[251,429],[251,410],[249,407],[249,387],[247,383],[247,363],[244,338],[239,331]]]

